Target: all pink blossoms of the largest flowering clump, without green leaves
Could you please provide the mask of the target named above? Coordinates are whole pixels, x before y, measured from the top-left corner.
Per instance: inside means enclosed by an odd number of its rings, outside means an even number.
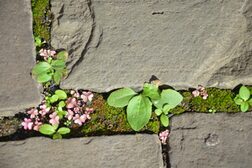
[[[91,119],[90,114],[94,112],[94,109],[90,107],[94,94],[89,91],[71,90],[70,95],[65,101],[66,106],[63,110],[66,112],[66,115],[63,118],[60,118],[57,114],[57,106],[47,107],[50,102],[43,100],[37,108],[31,108],[26,111],[28,117],[24,118],[21,125],[25,130],[35,131],[38,131],[42,124],[48,122],[51,125],[59,125],[68,121],[67,123],[70,123],[68,126],[74,123],[82,126]]]

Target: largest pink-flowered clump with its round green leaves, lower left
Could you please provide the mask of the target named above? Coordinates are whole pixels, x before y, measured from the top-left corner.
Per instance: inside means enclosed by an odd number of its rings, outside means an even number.
[[[62,135],[70,133],[70,128],[80,127],[91,119],[93,96],[92,92],[76,90],[67,93],[58,89],[52,94],[46,93],[37,108],[27,109],[22,126],[25,130],[61,139]]]

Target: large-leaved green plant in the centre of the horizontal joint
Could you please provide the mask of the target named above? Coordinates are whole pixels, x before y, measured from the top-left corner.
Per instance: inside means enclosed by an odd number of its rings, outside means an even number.
[[[169,125],[169,111],[179,105],[183,97],[172,89],[160,90],[158,84],[145,83],[143,91],[137,94],[130,88],[116,90],[108,97],[108,104],[113,107],[127,106],[127,120],[133,130],[139,131],[150,120],[152,105],[160,116],[163,126]]]

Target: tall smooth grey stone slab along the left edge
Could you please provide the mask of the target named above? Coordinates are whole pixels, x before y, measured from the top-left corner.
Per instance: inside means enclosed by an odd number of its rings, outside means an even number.
[[[35,64],[30,0],[0,1],[0,116],[40,102],[31,78]]]

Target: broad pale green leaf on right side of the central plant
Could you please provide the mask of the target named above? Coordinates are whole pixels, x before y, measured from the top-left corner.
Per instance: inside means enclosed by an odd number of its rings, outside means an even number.
[[[183,96],[175,90],[166,89],[162,91],[161,99],[163,102],[168,103],[170,108],[174,108],[182,102]]]

